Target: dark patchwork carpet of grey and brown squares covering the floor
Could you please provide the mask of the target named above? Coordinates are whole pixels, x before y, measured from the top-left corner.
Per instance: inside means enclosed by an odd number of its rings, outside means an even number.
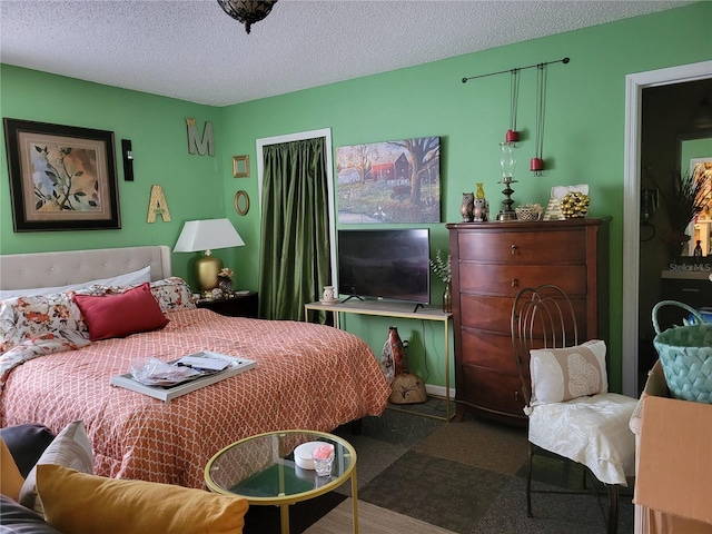
[[[335,434],[358,455],[362,534],[604,534],[607,500],[591,495],[533,495],[526,517],[524,428],[477,421],[459,423],[387,409]],[[580,488],[580,466],[536,456],[535,487]],[[632,482],[632,481],[631,481]],[[632,486],[623,491],[619,533],[633,532]],[[350,484],[293,506],[293,534],[352,532]],[[251,511],[255,514],[258,511]],[[261,512],[261,511],[259,511]],[[246,534],[278,532],[249,514]],[[251,524],[250,524],[251,523]],[[429,526],[424,526],[429,525]],[[276,526],[275,526],[276,527]]]

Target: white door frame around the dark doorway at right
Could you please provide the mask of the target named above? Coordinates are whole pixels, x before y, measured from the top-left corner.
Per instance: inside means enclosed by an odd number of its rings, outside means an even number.
[[[639,279],[642,93],[647,87],[712,78],[712,61],[637,72],[625,77],[625,188],[623,207],[623,393],[639,396]]]

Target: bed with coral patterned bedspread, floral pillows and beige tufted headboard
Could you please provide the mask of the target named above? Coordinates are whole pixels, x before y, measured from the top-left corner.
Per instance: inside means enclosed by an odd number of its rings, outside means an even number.
[[[137,271],[150,281],[131,279]],[[356,336],[196,308],[190,288],[170,276],[167,247],[0,256],[0,274],[3,291],[57,291],[0,294],[0,425],[42,423],[59,433],[83,421],[96,474],[204,487],[205,465],[226,445],[276,429],[329,432],[379,415],[390,393],[373,352]],[[113,284],[126,276],[129,284]],[[103,284],[77,286],[87,280]],[[118,298],[137,287],[150,288],[168,324],[87,339],[90,316],[78,310],[77,297]],[[105,322],[120,326],[119,316]],[[167,362],[206,349],[253,359],[257,368],[170,403],[109,384],[148,357]]]

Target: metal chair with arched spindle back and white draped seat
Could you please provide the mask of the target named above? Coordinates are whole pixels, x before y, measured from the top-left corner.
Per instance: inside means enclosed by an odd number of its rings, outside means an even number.
[[[532,514],[532,493],[594,493],[586,490],[586,472],[601,481],[609,495],[607,532],[617,532],[619,485],[626,485],[625,472],[633,471],[634,436],[629,421],[636,400],[606,392],[555,403],[537,403],[537,384],[531,378],[532,349],[578,347],[578,325],[568,296],[555,285],[527,287],[518,291],[512,307],[512,346],[528,416],[530,457],[526,477],[527,516]],[[602,374],[605,374],[605,368]],[[533,402],[534,400],[534,402]],[[602,409],[603,408],[603,409]],[[625,434],[630,434],[626,436]],[[595,435],[594,435],[595,434]],[[578,436],[580,439],[571,436]],[[620,462],[601,465],[592,443],[604,442]],[[586,443],[587,442],[587,443]],[[532,468],[537,448],[583,464],[584,492],[533,491]],[[630,465],[629,465],[630,464]],[[624,472],[625,471],[625,472]]]

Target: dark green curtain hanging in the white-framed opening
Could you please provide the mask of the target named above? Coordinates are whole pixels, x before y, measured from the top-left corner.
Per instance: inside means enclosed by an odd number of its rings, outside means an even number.
[[[263,157],[259,317],[304,320],[330,283],[325,140],[269,145]]]

